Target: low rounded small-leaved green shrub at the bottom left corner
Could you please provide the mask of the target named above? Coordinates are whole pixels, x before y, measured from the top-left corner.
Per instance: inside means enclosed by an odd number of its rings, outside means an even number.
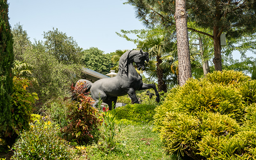
[[[72,160],[74,151],[67,141],[59,137],[59,129],[50,122],[38,122],[21,134],[13,146],[12,160]]]

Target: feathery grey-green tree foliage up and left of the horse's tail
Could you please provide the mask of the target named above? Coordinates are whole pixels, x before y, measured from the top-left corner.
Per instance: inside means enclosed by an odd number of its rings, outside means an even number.
[[[43,100],[67,96],[70,84],[81,75],[82,67],[79,64],[59,63],[41,42],[34,44],[23,56],[26,62],[35,66],[32,77],[38,81],[38,85],[29,87],[29,91],[38,93]]]

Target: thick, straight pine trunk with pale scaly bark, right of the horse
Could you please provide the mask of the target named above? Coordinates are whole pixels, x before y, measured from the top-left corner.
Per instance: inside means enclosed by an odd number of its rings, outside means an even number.
[[[175,15],[180,86],[191,77],[186,0],[176,0]]]

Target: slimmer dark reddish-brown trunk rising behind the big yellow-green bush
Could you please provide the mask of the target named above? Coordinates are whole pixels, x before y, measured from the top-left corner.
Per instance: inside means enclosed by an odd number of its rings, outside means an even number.
[[[214,63],[214,68],[215,70],[222,71],[219,26],[213,26],[213,45],[214,45],[214,58],[212,62]]]

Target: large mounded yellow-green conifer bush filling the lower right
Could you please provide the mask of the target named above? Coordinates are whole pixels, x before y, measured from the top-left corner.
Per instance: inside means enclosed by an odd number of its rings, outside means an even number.
[[[189,79],[156,108],[166,151],[194,159],[251,159],[256,153],[256,81],[233,70]]]

